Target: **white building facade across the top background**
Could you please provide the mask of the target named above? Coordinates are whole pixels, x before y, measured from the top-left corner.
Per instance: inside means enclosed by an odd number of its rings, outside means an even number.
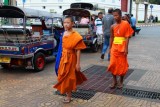
[[[4,2],[5,0],[0,0],[0,2]],[[90,3],[91,0],[26,0],[26,2],[22,3],[23,0],[12,0],[17,1],[17,6],[25,7],[25,8],[33,8],[39,10],[45,10],[49,12],[56,12],[62,14],[63,10],[70,8],[71,3],[76,2],[86,2]],[[124,13],[133,13],[136,16],[136,4],[132,2],[133,0],[92,0],[92,4],[97,8],[104,9],[106,12],[109,7],[112,8],[120,8]],[[150,5],[153,5],[153,9],[151,10]],[[157,16],[160,19],[160,8],[159,5],[149,4],[147,17],[151,14]],[[145,6],[144,4],[139,4],[138,9],[138,20],[144,21],[145,16]]]

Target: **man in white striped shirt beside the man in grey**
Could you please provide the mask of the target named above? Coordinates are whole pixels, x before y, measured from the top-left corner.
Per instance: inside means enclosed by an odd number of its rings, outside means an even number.
[[[103,18],[103,13],[99,12],[98,18],[94,22],[96,26],[97,43],[100,46],[103,43],[102,18]]]

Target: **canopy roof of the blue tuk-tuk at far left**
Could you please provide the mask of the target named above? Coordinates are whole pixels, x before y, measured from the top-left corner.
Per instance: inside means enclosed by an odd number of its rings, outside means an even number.
[[[1,6],[0,17],[6,18],[39,18],[39,17],[61,17],[58,14],[52,14],[47,11],[20,8],[15,6]]]

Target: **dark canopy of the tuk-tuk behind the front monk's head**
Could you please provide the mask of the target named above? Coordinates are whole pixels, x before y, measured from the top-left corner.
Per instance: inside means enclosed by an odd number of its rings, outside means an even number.
[[[97,11],[92,11],[88,9],[67,9],[63,11],[63,15],[70,15],[70,16],[81,16],[81,17],[89,17],[91,15],[98,15]]]

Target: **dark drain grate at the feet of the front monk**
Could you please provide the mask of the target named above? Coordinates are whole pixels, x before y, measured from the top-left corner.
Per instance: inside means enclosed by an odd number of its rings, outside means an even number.
[[[56,91],[55,94],[56,94],[56,95],[65,96],[65,94],[60,94],[59,91]],[[77,90],[76,92],[72,92],[72,98],[80,98],[80,99],[83,99],[83,100],[89,100],[89,99],[91,99],[95,94],[96,94],[96,92],[95,92],[95,91],[92,91],[92,90],[82,90],[82,89],[79,89],[79,90]]]

